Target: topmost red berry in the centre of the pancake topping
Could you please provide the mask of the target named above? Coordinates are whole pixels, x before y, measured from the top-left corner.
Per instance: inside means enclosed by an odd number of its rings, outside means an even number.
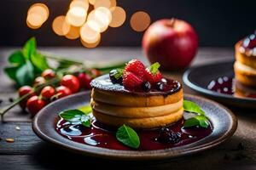
[[[129,61],[127,65],[125,65],[124,73],[127,71],[132,72],[137,77],[145,80],[145,66],[141,61],[137,59],[131,59],[131,61]]]

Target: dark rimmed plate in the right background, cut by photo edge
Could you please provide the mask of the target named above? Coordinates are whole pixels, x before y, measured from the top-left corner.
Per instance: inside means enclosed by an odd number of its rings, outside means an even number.
[[[218,77],[234,77],[233,65],[234,60],[230,60],[192,67],[184,72],[183,82],[196,92],[210,99],[216,99],[224,104],[256,108],[256,99],[238,98],[230,94],[220,94],[207,88],[209,82],[218,79]]]

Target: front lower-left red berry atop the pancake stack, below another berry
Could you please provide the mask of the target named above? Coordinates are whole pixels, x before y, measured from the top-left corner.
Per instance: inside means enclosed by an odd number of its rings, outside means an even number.
[[[123,76],[123,85],[126,89],[138,88],[142,85],[143,79],[137,77],[133,72],[125,71]]]

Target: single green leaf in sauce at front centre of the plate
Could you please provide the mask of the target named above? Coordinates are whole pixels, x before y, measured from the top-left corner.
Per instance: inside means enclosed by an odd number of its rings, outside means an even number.
[[[140,139],[137,133],[131,127],[125,125],[119,127],[116,133],[116,139],[122,144],[134,149],[137,149],[140,146]]]

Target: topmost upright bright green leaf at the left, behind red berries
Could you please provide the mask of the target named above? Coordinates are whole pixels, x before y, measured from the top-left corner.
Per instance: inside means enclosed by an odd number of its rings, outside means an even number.
[[[26,59],[30,59],[32,54],[35,54],[37,50],[36,38],[30,38],[22,49],[22,53]]]

